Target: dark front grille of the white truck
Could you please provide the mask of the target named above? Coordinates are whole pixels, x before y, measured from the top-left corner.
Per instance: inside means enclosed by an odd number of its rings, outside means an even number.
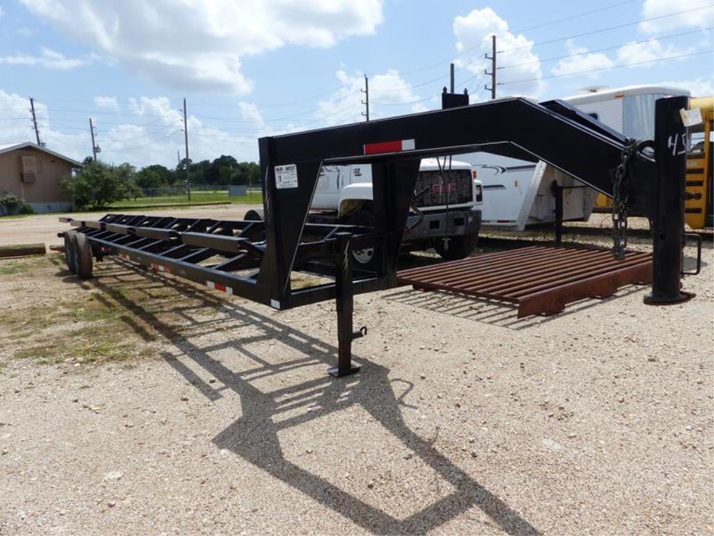
[[[441,207],[447,204],[463,204],[473,201],[473,184],[468,169],[445,170],[444,181],[441,172],[419,172],[416,177],[414,194],[417,207]]]

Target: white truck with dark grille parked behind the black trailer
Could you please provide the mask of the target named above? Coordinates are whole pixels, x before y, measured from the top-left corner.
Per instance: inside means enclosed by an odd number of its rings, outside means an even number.
[[[433,247],[445,259],[462,259],[476,249],[481,228],[483,191],[471,164],[449,157],[421,161],[404,244],[409,249]],[[370,164],[323,167],[311,209],[313,217],[373,225],[372,168]],[[361,265],[373,251],[354,252]]]

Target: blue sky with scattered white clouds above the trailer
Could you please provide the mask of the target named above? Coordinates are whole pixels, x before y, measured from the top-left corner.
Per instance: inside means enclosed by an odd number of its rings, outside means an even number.
[[[436,109],[456,86],[501,96],[668,84],[712,94],[714,0],[0,0],[0,144],[41,138],[81,159],[136,166],[183,156],[257,158],[256,138]],[[614,27],[619,26],[619,27]],[[603,31],[601,31],[603,30]],[[547,41],[547,42],[544,42]]]

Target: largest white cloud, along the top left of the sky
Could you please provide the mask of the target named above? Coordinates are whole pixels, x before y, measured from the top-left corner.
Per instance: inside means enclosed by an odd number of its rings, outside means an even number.
[[[21,0],[129,71],[189,91],[246,94],[245,56],[373,34],[382,0]]]

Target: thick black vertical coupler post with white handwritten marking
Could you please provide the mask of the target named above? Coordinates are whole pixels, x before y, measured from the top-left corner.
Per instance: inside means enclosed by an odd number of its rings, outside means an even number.
[[[655,102],[657,191],[652,224],[652,292],[645,296],[646,304],[673,304],[694,297],[680,288],[687,169],[687,131],[680,110],[688,107],[686,96],[667,97]]]

